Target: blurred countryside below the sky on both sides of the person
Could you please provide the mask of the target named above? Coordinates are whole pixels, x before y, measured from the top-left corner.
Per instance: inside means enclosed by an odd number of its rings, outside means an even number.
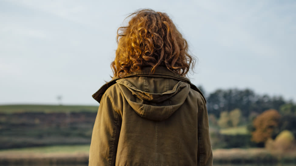
[[[296,163],[293,101],[258,95],[250,89],[206,93],[202,86],[199,88],[207,98],[215,164]],[[0,164],[30,163],[41,156],[47,158],[48,164],[87,164],[97,109],[0,106]]]

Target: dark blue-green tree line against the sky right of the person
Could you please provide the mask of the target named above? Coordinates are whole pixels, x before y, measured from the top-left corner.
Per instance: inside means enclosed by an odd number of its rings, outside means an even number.
[[[285,100],[282,96],[260,95],[251,89],[240,90],[217,89],[212,93],[205,93],[204,88],[199,86],[207,99],[207,110],[218,118],[223,111],[239,108],[243,117],[249,117],[252,112],[261,114],[268,109],[276,109],[283,114],[295,113],[296,105],[292,100]]]

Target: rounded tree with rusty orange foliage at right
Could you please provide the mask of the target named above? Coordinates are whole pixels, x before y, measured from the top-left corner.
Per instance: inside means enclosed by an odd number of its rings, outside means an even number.
[[[281,115],[275,109],[269,109],[257,116],[253,121],[255,131],[252,132],[252,141],[260,143],[271,138],[274,128],[278,126]]]

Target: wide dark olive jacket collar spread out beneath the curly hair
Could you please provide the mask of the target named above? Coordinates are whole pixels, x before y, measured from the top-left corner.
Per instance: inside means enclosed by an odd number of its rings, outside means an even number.
[[[187,83],[190,84],[190,88],[191,89],[199,92],[203,96],[204,101],[206,102],[206,99],[205,99],[203,93],[195,85],[193,85],[188,78],[183,77],[183,76],[180,76],[180,75],[178,75],[178,74],[170,71],[166,67],[157,67],[154,73],[151,73],[150,70],[151,70],[151,67],[144,67],[143,70],[138,70],[136,72],[126,74],[122,78],[129,78],[129,77],[135,77],[135,76],[147,76],[147,77],[170,78],[170,79],[174,79],[174,80],[184,81],[184,82],[187,82]],[[115,84],[116,83],[116,80],[119,80],[119,79],[122,79],[122,78],[115,77],[111,81],[105,83],[96,93],[94,93],[92,95],[93,98],[97,102],[100,103],[101,102],[101,99],[102,99],[102,96],[106,92],[106,90],[111,85]]]

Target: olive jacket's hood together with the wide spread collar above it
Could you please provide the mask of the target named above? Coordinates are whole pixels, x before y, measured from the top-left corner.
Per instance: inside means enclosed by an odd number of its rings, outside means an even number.
[[[93,98],[100,103],[106,90],[117,83],[127,102],[139,116],[158,121],[170,117],[184,103],[190,88],[204,98],[201,91],[187,78],[166,67],[157,67],[154,73],[150,70],[150,67],[145,67],[124,78],[115,77],[94,93]],[[205,98],[204,101],[206,102]]]

